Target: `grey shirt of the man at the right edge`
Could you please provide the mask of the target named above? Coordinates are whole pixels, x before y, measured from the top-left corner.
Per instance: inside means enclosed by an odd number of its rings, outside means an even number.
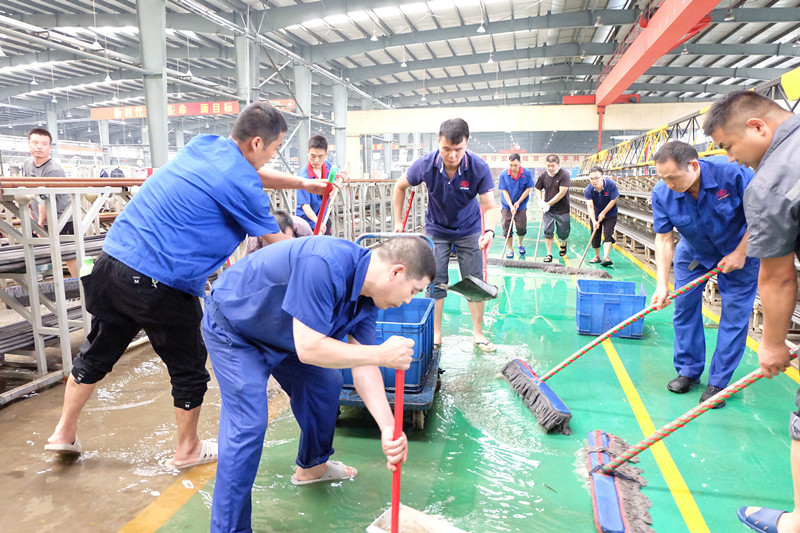
[[[775,130],[744,193],[750,257],[800,257],[800,115]]]

